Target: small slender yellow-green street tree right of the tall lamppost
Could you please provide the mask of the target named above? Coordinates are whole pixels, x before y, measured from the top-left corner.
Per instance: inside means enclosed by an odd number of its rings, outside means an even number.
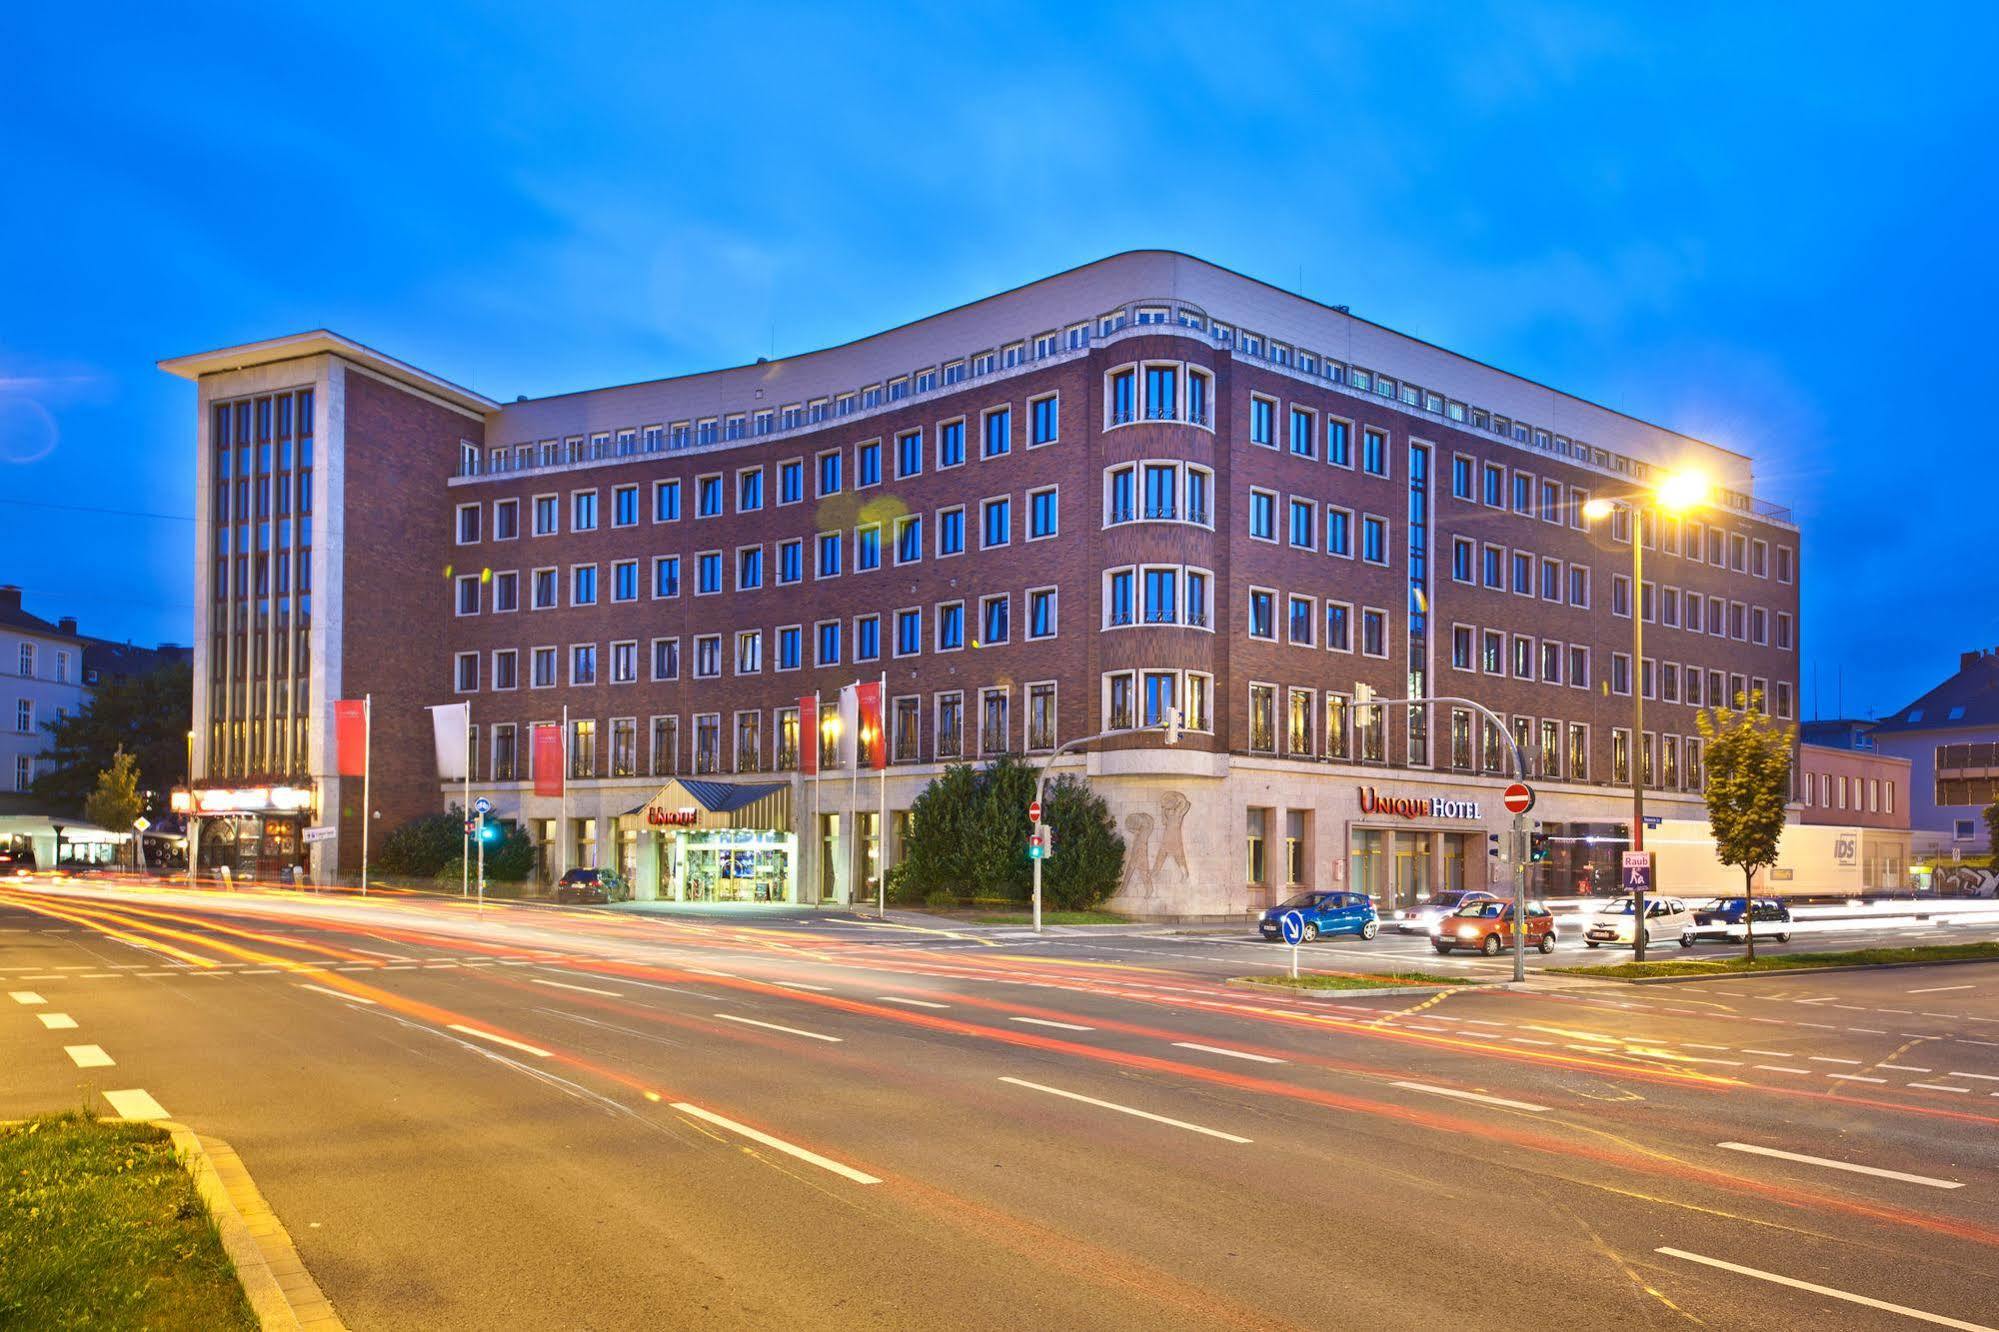
[[[1773,722],[1763,694],[1737,694],[1735,708],[1703,708],[1693,720],[1707,750],[1707,830],[1715,858],[1743,872],[1743,940],[1755,962],[1755,872],[1777,864],[1797,728]]]

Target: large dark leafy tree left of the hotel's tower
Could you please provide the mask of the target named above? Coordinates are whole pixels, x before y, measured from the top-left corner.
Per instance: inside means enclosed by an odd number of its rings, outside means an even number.
[[[112,764],[118,750],[130,754],[154,782],[172,786],[188,770],[192,724],[192,666],[178,662],[106,680],[80,710],[42,726],[48,748],[40,754],[44,762],[34,778],[34,796],[52,812],[82,810],[98,772]]]

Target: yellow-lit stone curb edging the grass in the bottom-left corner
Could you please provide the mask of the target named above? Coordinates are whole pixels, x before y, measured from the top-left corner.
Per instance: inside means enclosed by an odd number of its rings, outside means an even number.
[[[236,1150],[220,1138],[200,1138],[174,1120],[160,1120],[160,1128],[174,1136],[196,1192],[216,1218],[222,1248],[236,1264],[236,1280],[242,1282],[258,1326],[266,1332],[344,1332],[346,1324],[298,1260],[292,1236],[264,1202]]]

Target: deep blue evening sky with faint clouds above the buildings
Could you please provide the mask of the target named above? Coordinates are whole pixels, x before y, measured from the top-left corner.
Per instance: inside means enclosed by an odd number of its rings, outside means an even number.
[[[32,610],[186,640],[160,356],[332,326],[534,396],[1163,246],[1753,454],[1807,716],[1999,644],[1989,8],[282,8],[0,18]]]

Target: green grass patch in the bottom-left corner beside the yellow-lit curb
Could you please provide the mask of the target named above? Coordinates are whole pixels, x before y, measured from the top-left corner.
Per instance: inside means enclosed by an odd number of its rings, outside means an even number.
[[[256,1326],[164,1128],[0,1126],[0,1328]]]

